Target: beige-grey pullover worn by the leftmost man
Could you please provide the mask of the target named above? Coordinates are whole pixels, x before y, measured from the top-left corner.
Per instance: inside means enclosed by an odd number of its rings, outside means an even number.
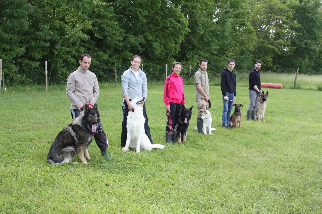
[[[96,103],[99,97],[99,84],[96,75],[78,67],[67,78],[66,94],[71,100],[71,109],[77,109],[83,103]]]

